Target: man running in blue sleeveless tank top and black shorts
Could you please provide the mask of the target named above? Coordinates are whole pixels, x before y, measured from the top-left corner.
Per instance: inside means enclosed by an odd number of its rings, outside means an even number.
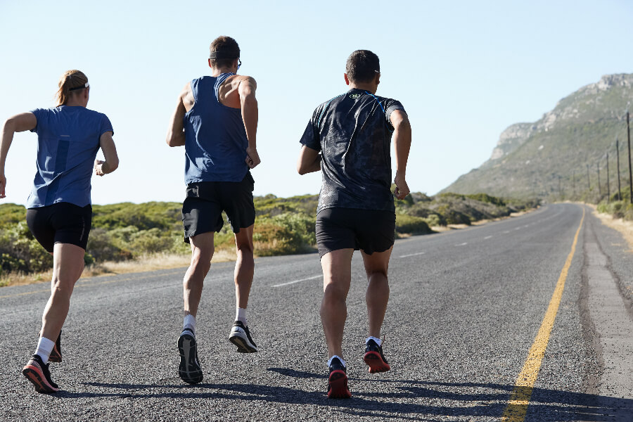
[[[229,340],[238,352],[257,352],[246,320],[246,306],[255,268],[252,229],[255,182],[250,169],[257,154],[255,79],[236,75],[240,49],[231,37],[210,46],[212,75],[188,82],[178,97],[167,133],[167,145],[185,147],[186,198],[182,205],[184,240],[191,243],[191,265],[183,280],[184,323],[178,339],[183,381],[196,384],[203,372],[198,362],[196,314],[205,276],[214,252],[214,231],[224,225],[226,212],[235,235],[236,317]]]

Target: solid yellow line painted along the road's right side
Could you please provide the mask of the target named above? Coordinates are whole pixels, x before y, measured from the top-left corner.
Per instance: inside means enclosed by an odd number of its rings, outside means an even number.
[[[554,319],[558,313],[558,306],[561,305],[561,298],[563,297],[563,288],[565,287],[565,280],[567,280],[567,273],[571,262],[576,252],[576,243],[578,242],[578,234],[584,222],[584,208],[582,209],[582,219],[580,219],[580,226],[576,231],[574,242],[572,244],[571,252],[567,256],[561,276],[558,277],[558,283],[554,289],[554,295],[551,296],[549,301],[549,307],[545,312],[545,317],[539,328],[530,352],[528,353],[528,359],[525,359],[523,370],[516,377],[516,385],[510,395],[508,406],[501,416],[501,421],[504,422],[523,422],[525,420],[525,413],[528,411],[528,404],[530,404],[530,397],[532,397],[532,389],[536,383],[536,378],[541,369],[541,363],[545,355],[545,348],[549,343],[549,335],[551,328],[554,326]]]

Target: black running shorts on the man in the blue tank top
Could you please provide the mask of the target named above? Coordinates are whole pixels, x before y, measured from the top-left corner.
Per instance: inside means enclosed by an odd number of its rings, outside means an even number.
[[[234,233],[255,223],[252,190],[255,181],[250,172],[242,181],[199,181],[187,185],[182,204],[184,241],[196,234],[220,231],[224,226],[222,211],[229,217]]]

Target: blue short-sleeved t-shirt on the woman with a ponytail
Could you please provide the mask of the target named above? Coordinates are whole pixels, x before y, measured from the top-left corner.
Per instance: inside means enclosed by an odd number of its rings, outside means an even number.
[[[113,132],[106,115],[81,106],[37,108],[37,174],[27,208],[91,203],[90,179],[99,138]]]

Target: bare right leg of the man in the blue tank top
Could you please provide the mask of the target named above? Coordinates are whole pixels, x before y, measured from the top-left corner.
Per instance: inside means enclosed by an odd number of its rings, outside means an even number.
[[[252,286],[252,276],[255,271],[255,260],[252,256],[252,224],[240,229],[235,234],[235,247],[237,260],[235,262],[235,302],[236,307],[246,309],[248,306],[248,295]]]

